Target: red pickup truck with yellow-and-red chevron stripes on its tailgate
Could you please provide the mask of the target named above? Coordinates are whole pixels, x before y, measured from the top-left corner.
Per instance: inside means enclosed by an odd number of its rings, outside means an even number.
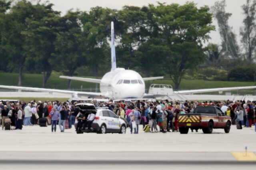
[[[187,134],[189,128],[202,129],[204,133],[212,133],[213,128],[224,128],[224,131],[229,133],[230,126],[231,117],[215,106],[197,106],[193,113],[178,115],[181,134]]]

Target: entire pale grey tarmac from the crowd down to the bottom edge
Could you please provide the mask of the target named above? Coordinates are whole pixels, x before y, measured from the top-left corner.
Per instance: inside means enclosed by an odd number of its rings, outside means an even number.
[[[0,167],[8,169],[156,169],[242,168],[256,165],[239,161],[233,152],[256,153],[254,127],[230,133],[214,129],[212,134],[189,132],[139,134],[76,134],[74,127],[64,133],[51,127],[28,126],[22,130],[0,130]],[[26,168],[25,168],[26,167]],[[23,169],[20,168],[20,169]],[[123,168],[123,169],[126,169]]]

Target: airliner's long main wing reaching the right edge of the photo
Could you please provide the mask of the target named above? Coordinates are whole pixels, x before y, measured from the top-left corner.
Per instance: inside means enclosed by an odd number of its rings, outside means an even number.
[[[181,94],[181,95],[189,95],[189,94],[194,94],[194,93],[207,93],[207,92],[214,92],[214,91],[218,91],[219,93],[222,93],[222,91],[242,90],[242,89],[256,89],[256,86],[224,87],[224,88],[197,89],[197,90],[181,90],[181,91],[174,91],[174,93]]]

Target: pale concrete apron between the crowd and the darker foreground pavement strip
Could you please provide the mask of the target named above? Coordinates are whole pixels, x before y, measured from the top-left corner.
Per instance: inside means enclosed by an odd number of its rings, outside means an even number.
[[[237,130],[231,127],[230,133],[214,129],[212,134],[202,130],[180,134],[144,133],[139,134],[76,134],[74,128],[61,133],[51,132],[51,127],[24,127],[22,130],[0,130],[1,151],[26,152],[256,152],[256,132],[253,128]]]

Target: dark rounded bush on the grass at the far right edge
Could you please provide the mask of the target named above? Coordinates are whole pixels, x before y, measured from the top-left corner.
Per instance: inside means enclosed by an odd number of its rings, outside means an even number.
[[[228,73],[229,81],[255,81],[256,69],[252,66],[236,66]]]

